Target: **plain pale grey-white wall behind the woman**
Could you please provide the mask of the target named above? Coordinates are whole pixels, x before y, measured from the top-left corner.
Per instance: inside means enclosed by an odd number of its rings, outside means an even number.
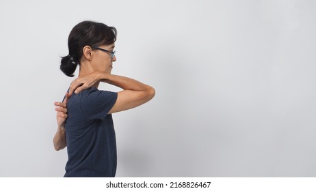
[[[0,177],[64,175],[53,102],[82,20],[118,29],[112,74],[156,89],[113,115],[117,177],[316,176],[316,1],[2,0]]]

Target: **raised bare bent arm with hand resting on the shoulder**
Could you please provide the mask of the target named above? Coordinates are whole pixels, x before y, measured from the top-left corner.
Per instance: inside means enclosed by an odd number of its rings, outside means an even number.
[[[70,85],[69,95],[74,91],[75,93],[79,93],[83,89],[87,89],[98,82],[109,83],[123,89],[123,91],[118,92],[116,103],[109,113],[135,108],[148,102],[155,96],[155,89],[149,85],[124,76],[101,72],[94,72],[89,76],[74,80]]]

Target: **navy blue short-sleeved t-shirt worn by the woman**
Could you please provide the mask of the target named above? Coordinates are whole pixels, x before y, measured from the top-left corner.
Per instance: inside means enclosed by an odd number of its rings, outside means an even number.
[[[68,162],[64,177],[114,177],[116,137],[109,111],[118,93],[94,87],[73,93],[67,102]]]

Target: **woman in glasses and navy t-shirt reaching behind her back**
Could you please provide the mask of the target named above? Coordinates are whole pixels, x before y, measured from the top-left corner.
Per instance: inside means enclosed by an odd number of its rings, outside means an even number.
[[[116,136],[111,113],[140,106],[155,95],[153,87],[111,74],[115,42],[116,29],[103,23],[83,21],[70,32],[69,55],[62,58],[60,69],[73,76],[79,65],[79,77],[63,102],[55,102],[58,128],[53,138],[56,150],[67,147],[64,177],[114,177]],[[123,90],[101,91],[99,83]]]

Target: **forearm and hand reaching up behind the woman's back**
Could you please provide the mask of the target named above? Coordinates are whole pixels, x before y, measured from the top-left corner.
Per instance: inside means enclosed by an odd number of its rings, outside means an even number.
[[[55,111],[57,111],[57,132],[53,138],[53,143],[56,151],[64,149],[67,146],[66,143],[66,131],[65,131],[65,121],[68,117],[67,115],[67,104],[68,93],[63,102],[55,102]]]

